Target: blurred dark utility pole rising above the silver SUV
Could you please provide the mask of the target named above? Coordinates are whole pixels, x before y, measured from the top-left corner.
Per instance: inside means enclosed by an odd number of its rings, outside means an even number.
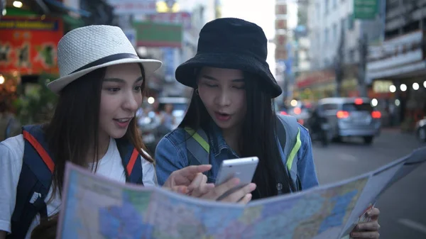
[[[358,64],[358,87],[359,96],[367,97],[366,90],[366,65],[368,57],[368,38],[367,34],[360,35],[358,41],[359,64]]]

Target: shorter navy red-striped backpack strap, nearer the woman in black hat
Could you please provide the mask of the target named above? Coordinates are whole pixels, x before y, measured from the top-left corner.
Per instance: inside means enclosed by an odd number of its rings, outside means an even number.
[[[126,172],[126,182],[143,185],[141,154],[128,140],[119,139],[116,143]]]

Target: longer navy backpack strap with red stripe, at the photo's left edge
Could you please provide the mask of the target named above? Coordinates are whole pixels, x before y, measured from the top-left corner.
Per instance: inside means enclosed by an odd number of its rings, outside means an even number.
[[[52,184],[55,162],[46,150],[41,126],[23,126],[23,164],[16,189],[16,205],[11,218],[12,233],[6,238],[25,238],[35,216],[47,218],[45,198]]]

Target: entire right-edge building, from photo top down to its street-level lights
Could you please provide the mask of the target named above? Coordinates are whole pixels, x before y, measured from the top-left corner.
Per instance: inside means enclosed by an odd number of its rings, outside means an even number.
[[[426,1],[386,0],[384,41],[371,46],[366,81],[393,124],[406,130],[426,115]]]

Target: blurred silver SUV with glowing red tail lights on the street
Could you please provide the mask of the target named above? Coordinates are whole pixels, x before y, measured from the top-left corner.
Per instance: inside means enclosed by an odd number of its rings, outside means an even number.
[[[371,105],[368,98],[326,98],[318,101],[318,107],[330,124],[332,138],[361,137],[364,143],[373,143],[380,134],[381,112]]]

